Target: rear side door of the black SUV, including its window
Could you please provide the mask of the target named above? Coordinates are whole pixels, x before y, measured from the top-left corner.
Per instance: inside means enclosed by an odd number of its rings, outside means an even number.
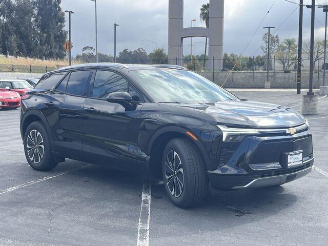
[[[42,109],[49,122],[52,151],[72,159],[83,159],[82,107],[88,93],[92,70],[67,73],[59,84],[45,95]],[[42,87],[43,81],[37,87]]]

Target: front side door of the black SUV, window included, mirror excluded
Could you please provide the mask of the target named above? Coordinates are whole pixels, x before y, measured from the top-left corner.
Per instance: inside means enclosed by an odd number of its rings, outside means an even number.
[[[94,163],[110,163],[119,169],[135,165],[142,97],[124,76],[115,71],[95,71],[90,86],[91,97],[85,100],[82,122],[86,159]],[[106,100],[109,93],[118,91],[131,93],[135,110],[126,111],[120,104]]]

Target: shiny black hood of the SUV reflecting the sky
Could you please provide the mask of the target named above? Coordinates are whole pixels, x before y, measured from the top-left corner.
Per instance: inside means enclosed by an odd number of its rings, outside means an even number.
[[[176,107],[184,109],[188,115],[201,117],[212,121],[214,124],[230,126],[282,128],[302,125],[305,122],[301,114],[289,107],[259,103],[257,101],[174,104],[174,108]]]

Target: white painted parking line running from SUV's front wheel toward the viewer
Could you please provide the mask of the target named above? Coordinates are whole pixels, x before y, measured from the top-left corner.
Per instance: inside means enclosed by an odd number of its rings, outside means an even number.
[[[151,185],[145,181],[142,187],[141,209],[138,223],[137,246],[149,245],[149,222],[150,222]]]

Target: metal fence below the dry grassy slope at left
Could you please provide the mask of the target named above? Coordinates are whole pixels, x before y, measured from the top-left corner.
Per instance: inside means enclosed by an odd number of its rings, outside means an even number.
[[[31,66],[31,65],[15,65],[0,64],[0,73],[47,73],[64,66]]]

